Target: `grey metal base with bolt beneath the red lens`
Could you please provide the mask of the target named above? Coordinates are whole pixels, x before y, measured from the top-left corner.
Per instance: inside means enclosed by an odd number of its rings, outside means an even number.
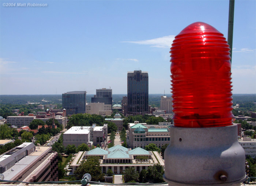
[[[225,127],[170,127],[165,150],[169,185],[240,185],[245,179],[245,152],[237,124]]]

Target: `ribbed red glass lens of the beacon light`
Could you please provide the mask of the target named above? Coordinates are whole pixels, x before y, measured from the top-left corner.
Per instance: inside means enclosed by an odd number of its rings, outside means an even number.
[[[223,34],[202,22],[175,37],[170,51],[174,126],[232,124],[229,50]]]

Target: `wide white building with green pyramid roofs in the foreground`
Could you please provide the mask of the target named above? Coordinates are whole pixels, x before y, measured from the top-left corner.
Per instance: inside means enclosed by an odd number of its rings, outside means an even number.
[[[122,174],[123,171],[129,167],[134,167],[139,173],[143,169],[147,170],[149,166],[155,164],[160,164],[164,167],[164,161],[157,151],[146,151],[140,147],[131,150],[116,145],[106,150],[97,147],[90,151],[79,152],[71,163],[73,173],[81,162],[88,159],[90,156],[100,157],[99,166],[103,174],[106,174],[108,169],[111,169],[114,174]],[[140,159],[136,159],[138,156],[144,156],[148,159],[141,161]]]

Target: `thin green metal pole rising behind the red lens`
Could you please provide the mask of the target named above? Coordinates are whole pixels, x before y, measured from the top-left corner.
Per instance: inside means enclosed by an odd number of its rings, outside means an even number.
[[[227,30],[227,43],[230,47],[230,62],[232,60],[232,48],[233,48],[233,27],[234,27],[234,7],[235,0],[229,0],[229,27]]]

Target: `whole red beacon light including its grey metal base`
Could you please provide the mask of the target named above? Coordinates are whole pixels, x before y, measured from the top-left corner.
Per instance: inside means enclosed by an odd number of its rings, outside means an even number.
[[[163,175],[169,186],[240,186],[246,179],[245,152],[232,123],[229,50],[223,34],[202,22],[173,41],[174,125]]]

